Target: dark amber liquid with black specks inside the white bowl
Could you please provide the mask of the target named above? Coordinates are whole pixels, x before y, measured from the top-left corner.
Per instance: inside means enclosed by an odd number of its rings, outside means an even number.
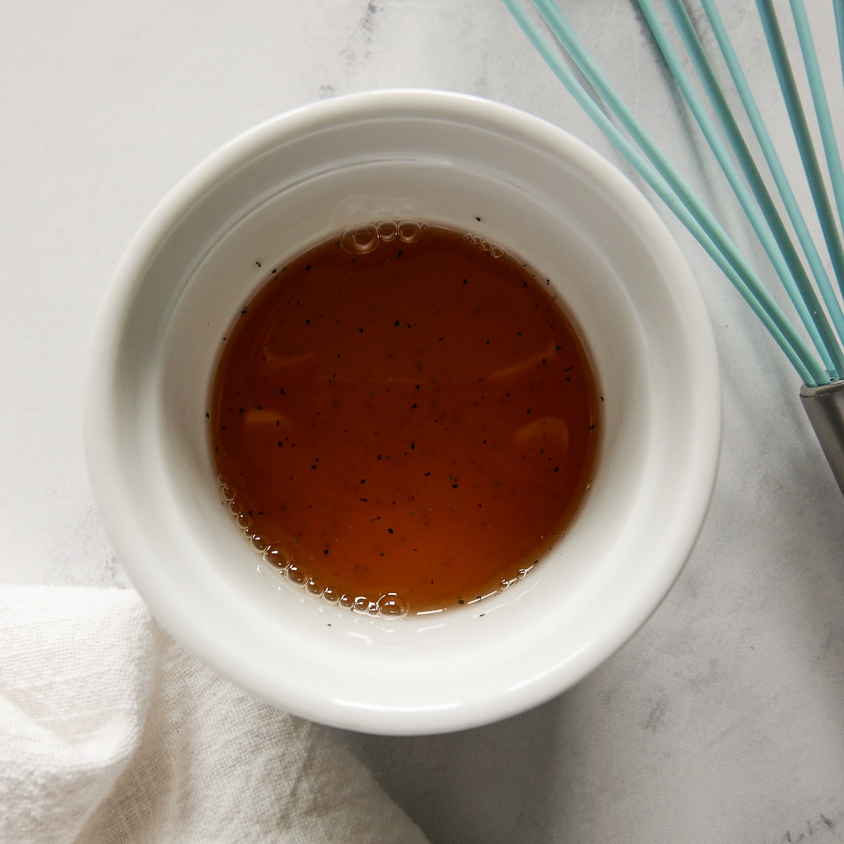
[[[598,398],[512,257],[432,226],[365,254],[338,238],[273,270],[230,331],[214,460],[241,527],[312,592],[412,614],[541,560],[589,484]]]

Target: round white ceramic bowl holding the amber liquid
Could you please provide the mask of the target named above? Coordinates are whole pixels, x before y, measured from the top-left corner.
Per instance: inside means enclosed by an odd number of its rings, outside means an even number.
[[[592,490],[549,559],[497,598],[397,621],[257,571],[220,504],[205,418],[221,339],[269,268],[381,218],[478,232],[551,279],[604,399]],[[85,417],[116,553],[176,640],[285,710],[405,734],[535,706],[624,643],[690,552],[720,436],[706,311],[644,197],[557,127],[420,90],[292,111],[181,181],[108,289]]]

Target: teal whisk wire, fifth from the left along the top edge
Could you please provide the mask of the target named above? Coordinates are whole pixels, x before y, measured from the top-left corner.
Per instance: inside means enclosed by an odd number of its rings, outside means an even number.
[[[744,106],[750,126],[753,128],[756,140],[759,142],[768,169],[771,170],[771,176],[773,176],[776,189],[780,193],[780,197],[782,197],[782,203],[785,205],[788,218],[792,222],[798,241],[800,241],[803,254],[809,262],[809,268],[811,268],[814,275],[815,284],[818,285],[820,295],[823,297],[827,311],[829,311],[832,322],[836,327],[836,332],[839,338],[841,338],[841,342],[844,343],[844,313],[841,311],[841,305],[838,302],[835,291],[832,289],[823,260],[812,240],[812,235],[809,234],[809,227],[806,225],[803,212],[800,210],[791,185],[788,183],[785,170],[782,169],[782,163],[776,154],[776,149],[774,149],[771,135],[768,133],[765,122],[762,120],[759,107],[756,106],[756,101],[750,91],[747,78],[744,76],[744,70],[741,67],[741,63],[738,62],[738,56],[733,49],[733,43],[730,41],[727,29],[723,24],[721,15],[718,14],[713,0],[701,0],[701,3],[706,12],[706,17],[709,19],[709,24],[718,42],[718,46],[721,49],[724,61],[727,63],[730,76],[733,78],[733,84],[736,87],[742,106]],[[836,11],[839,8],[840,4],[836,4]],[[841,15],[841,24],[844,25],[844,15]],[[842,68],[844,68],[844,65],[842,65]]]

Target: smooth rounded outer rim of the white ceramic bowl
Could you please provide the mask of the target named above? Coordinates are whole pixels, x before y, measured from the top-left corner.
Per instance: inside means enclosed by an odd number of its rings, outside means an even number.
[[[333,701],[322,701],[321,706],[314,706],[313,701],[291,701],[290,704],[291,710],[298,714],[338,727],[395,734],[446,732],[499,720],[536,706],[582,679],[621,647],[657,609],[679,576],[700,533],[711,500],[721,439],[721,388],[715,340],[706,306],[679,246],[652,204],[624,174],[587,144],[564,129],[512,106],[429,89],[383,89],[321,100],[274,116],[236,136],[208,155],[161,199],[133,236],[116,267],[96,317],[85,368],[85,455],[106,533],[116,549],[126,549],[129,544],[127,539],[131,539],[138,527],[126,509],[127,480],[118,477],[110,468],[115,465],[114,458],[120,448],[116,426],[110,415],[108,398],[111,392],[108,384],[116,371],[121,354],[122,329],[138,286],[143,283],[145,268],[153,261],[168,232],[190,213],[192,206],[208,192],[209,187],[251,160],[255,154],[268,149],[268,143],[278,144],[284,137],[360,119],[364,115],[452,116],[473,126],[495,125],[510,137],[529,138],[543,149],[565,147],[570,159],[576,160],[578,166],[611,192],[628,213],[636,215],[637,225],[641,230],[647,230],[647,241],[654,252],[674,268],[678,284],[673,292],[695,329],[695,392],[700,393],[700,405],[708,413],[706,418],[698,420],[690,448],[689,476],[694,473],[696,483],[693,484],[694,489],[684,490],[682,510],[670,527],[671,544],[676,549],[674,565],[666,565],[659,583],[652,590],[652,603],[636,618],[625,619],[624,625],[617,625],[614,636],[606,636],[604,641],[596,643],[596,647],[589,648],[586,653],[575,654],[565,666],[558,666],[555,672],[518,695],[489,701],[488,706],[473,710],[463,707],[420,712],[414,711],[413,707],[405,707],[404,711],[386,713],[372,707],[368,712],[354,711],[350,714],[347,708]],[[255,684],[238,674],[225,663],[225,658],[214,652],[213,645],[192,634],[189,625],[185,625],[184,619],[173,610],[170,598],[162,597],[156,591],[154,577],[143,576],[133,564],[131,555],[122,553],[120,558],[126,561],[133,585],[177,641],[235,683],[261,695]],[[270,702],[279,705],[279,701]]]

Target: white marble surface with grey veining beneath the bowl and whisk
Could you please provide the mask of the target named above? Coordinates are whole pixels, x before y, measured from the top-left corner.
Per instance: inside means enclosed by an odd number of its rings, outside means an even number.
[[[633,3],[561,6],[749,243]],[[844,137],[831,5],[807,6]],[[774,108],[753,4],[719,7]],[[279,111],[397,86],[501,100],[619,161],[498,0],[3,3],[0,579],[127,583],[89,491],[80,392],[100,296],[154,203]],[[803,417],[798,376],[668,222],[721,353],[722,461],[701,538],[647,625],[565,695],[466,733],[347,736],[434,844],[844,841],[844,499]]]

